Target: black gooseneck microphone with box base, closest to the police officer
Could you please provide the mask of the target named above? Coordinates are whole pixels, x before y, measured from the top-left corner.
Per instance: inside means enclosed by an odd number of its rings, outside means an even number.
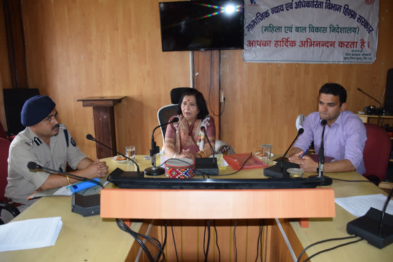
[[[91,182],[104,188],[104,186],[100,182],[95,181],[93,179],[79,177],[76,174],[65,173],[48,167],[43,167],[35,162],[27,163],[27,168],[31,170],[43,169],[54,173],[65,174],[65,176],[77,178],[86,182]],[[81,214],[82,216],[91,216],[91,215],[100,214],[100,194],[81,195],[78,193],[74,193],[71,198],[71,211],[74,213]]]

